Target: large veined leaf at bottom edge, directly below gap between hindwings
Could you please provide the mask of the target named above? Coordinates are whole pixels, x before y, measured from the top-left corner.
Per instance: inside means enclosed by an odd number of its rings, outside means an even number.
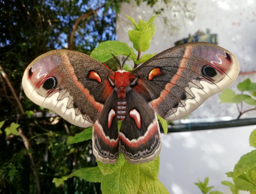
[[[121,168],[102,177],[101,190],[102,194],[136,194],[139,185],[139,166],[125,161]]]

